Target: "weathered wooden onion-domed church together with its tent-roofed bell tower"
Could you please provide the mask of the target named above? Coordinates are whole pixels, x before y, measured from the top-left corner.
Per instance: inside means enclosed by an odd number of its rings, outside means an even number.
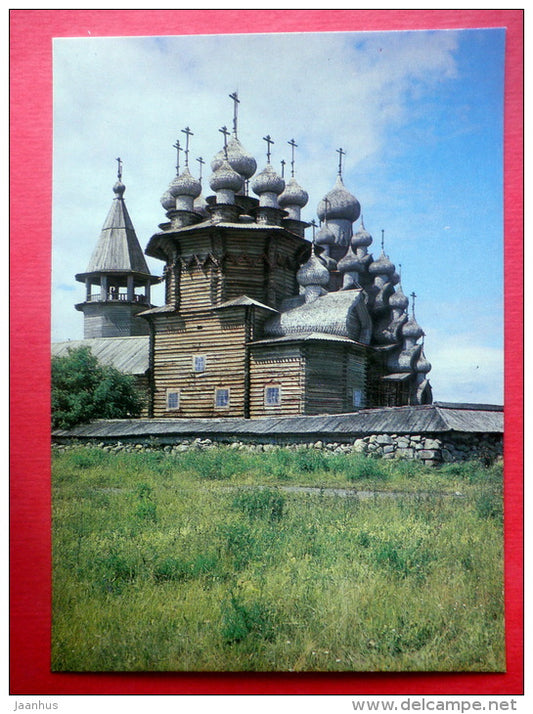
[[[211,194],[189,167],[189,140],[161,203],[166,222],[146,255],[164,263],[165,304],[150,304],[151,276],[125,208],[115,200],[90,265],[84,342],[141,336],[152,417],[256,418],[333,414],[432,401],[424,333],[408,314],[400,276],[373,239],[342,177],[301,220],[308,195],[295,178],[257,162],[233,132],[211,162]],[[180,152],[184,168],[180,170]],[[199,160],[203,163],[201,160]],[[201,167],[200,163],[200,167]],[[255,195],[254,195],[255,194]],[[316,230],[315,233],[315,228]],[[313,240],[305,238],[306,229]],[[96,286],[96,291],[93,291]],[[413,300],[414,300],[413,293]],[[117,342],[118,344],[118,342]],[[105,346],[105,345],[104,345]]]

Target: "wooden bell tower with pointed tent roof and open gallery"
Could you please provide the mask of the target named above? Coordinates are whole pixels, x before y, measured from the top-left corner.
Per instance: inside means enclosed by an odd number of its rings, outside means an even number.
[[[76,305],[83,312],[85,339],[147,335],[148,325],[135,316],[151,307],[150,287],[159,282],[150,274],[128,214],[122,161],[117,161],[115,198],[86,271],[76,275],[86,287],[85,302]]]

